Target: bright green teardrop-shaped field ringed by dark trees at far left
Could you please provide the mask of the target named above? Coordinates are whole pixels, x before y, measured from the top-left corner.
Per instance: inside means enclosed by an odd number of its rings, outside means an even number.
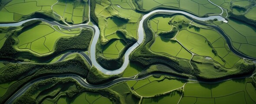
[[[53,51],[59,38],[74,35],[61,33],[61,31],[55,30],[48,25],[41,24],[21,33],[17,37],[19,40],[17,46],[19,49],[30,49],[38,54],[45,54]]]

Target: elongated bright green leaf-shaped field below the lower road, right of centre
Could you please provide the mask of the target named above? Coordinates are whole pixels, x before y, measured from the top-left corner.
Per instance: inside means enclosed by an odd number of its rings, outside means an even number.
[[[139,82],[137,84],[140,84]],[[135,84],[135,86],[137,85]],[[154,96],[156,94],[162,94],[177,88],[180,88],[184,85],[183,81],[176,79],[164,79],[163,81],[152,81],[148,84],[144,84],[140,88],[136,89],[136,93],[148,97]]]

